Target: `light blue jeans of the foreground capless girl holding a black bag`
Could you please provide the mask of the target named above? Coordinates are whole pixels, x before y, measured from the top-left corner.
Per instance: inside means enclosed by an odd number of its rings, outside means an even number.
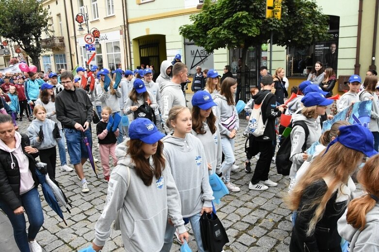
[[[201,240],[201,231],[200,231],[200,213],[188,217],[191,222],[192,231],[194,232],[196,243],[198,244],[198,252],[204,252],[203,241]],[[167,221],[166,224],[166,233],[165,233],[165,244],[161,252],[169,252],[172,246],[172,237],[175,234],[176,228],[170,225]]]

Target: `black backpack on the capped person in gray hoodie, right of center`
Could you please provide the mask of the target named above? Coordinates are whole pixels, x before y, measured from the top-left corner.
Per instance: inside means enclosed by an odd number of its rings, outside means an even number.
[[[308,129],[307,124],[304,121],[298,121],[294,123],[292,126],[289,125],[288,127],[294,128],[297,125],[302,126],[305,131],[305,142],[303,144],[303,147],[301,148],[302,152],[304,152],[305,149],[307,148],[309,129]],[[283,176],[287,176],[290,174],[290,170],[292,166],[292,161],[290,160],[291,147],[292,147],[291,136],[288,136],[282,142],[282,144],[279,147],[278,153],[276,154],[276,159],[275,159],[276,169],[278,171],[278,174],[282,174]]]

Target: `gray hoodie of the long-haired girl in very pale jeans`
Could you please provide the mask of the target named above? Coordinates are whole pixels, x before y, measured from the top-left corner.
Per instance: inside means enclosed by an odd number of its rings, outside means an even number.
[[[229,105],[226,97],[221,94],[216,94],[214,96],[214,102],[217,104],[217,106],[214,107],[214,113],[217,118],[218,128],[220,130],[221,138],[229,138],[229,135],[231,134],[231,130],[235,129],[238,130],[240,125],[240,119],[238,118],[238,112],[234,105]],[[232,116],[234,112],[235,115],[235,126],[233,129],[229,130],[225,126],[223,126],[221,123],[227,120],[229,117]]]

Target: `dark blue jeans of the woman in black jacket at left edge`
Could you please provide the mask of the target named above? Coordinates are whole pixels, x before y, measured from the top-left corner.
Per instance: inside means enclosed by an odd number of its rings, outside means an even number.
[[[18,249],[21,252],[29,252],[29,240],[34,240],[38,231],[41,229],[44,222],[41,200],[37,187],[20,195],[20,201],[28,215],[29,229],[26,234],[26,221],[24,214],[16,215],[13,210],[0,200],[0,208],[8,216],[13,227],[13,235],[16,240]]]

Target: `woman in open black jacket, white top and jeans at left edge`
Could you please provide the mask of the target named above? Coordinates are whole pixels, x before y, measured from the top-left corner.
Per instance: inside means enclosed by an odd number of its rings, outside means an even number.
[[[21,252],[42,251],[34,240],[44,221],[35,176],[37,156],[28,136],[15,131],[12,117],[0,114],[0,208],[12,223]],[[29,220],[28,234],[24,212]]]

